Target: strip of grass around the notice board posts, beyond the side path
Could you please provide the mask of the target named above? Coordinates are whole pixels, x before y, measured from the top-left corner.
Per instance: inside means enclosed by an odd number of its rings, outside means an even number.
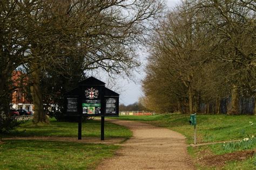
[[[50,119],[50,124],[33,125],[31,121],[21,124],[16,130],[11,131],[11,136],[56,136],[77,137],[78,123],[57,122]],[[105,122],[105,138],[129,138],[132,132],[117,124]],[[100,138],[100,121],[89,120],[82,123],[82,137]]]

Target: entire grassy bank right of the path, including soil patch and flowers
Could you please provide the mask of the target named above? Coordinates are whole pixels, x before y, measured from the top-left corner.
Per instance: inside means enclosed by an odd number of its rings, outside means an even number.
[[[120,116],[119,119],[142,121],[168,128],[192,144],[194,126],[189,115]],[[256,169],[256,116],[197,115],[197,143],[240,140],[206,146],[188,147],[198,169]]]

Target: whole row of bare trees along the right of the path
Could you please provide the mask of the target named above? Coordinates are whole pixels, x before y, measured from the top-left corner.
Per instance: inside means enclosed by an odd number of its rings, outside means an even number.
[[[167,12],[147,44],[146,107],[238,115],[251,102],[247,114],[256,114],[255,5],[192,0]]]

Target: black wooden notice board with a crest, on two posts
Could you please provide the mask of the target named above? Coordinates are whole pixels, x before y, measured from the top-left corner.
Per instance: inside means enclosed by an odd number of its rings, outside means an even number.
[[[78,139],[82,139],[82,117],[100,116],[101,139],[104,140],[104,117],[119,116],[119,94],[105,87],[105,83],[89,77],[78,83],[78,87],[64,95],[64,115],[77,116]]]

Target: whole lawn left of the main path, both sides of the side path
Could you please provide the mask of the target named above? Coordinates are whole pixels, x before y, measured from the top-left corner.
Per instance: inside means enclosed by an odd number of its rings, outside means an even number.
[[[74,137],[78,123],[57,122],[33,125],[21,124],[4,137]],[[120,125],[105,122],[105,138],[130,138],[132,132]],[[100,141],[100,121],[82,124],[82,138],[97,137]],[[4,140],[0,143],[0,169],[93,169],[104,158],[112,157],[120,146],[81,144],[45,140]]]

